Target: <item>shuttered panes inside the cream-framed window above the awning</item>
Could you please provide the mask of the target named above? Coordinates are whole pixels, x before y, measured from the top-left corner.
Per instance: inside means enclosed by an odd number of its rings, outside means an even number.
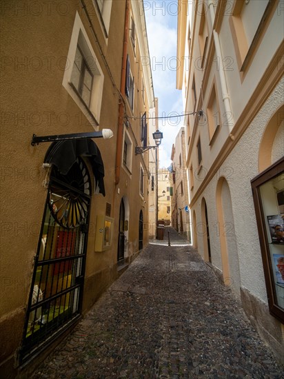
[[[71,74],[71,83],[87,107],[90,107],[93,79],[94,75],[88,67],[88,63],[83,57],[79,46],[77,46]]]

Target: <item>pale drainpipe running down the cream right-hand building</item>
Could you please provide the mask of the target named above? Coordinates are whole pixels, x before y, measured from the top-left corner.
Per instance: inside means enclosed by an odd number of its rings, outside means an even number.
[[[211,17],[211,23],[212,23],[212,28],[214,25],[214,19],[215,19],[215,10],[214,10],[214,1],[209,0],[208,1],[208,7],[210,10],[210,17]],[[221,52],[221,45],[220,45],[220,40],[219,40],[219,34],[216,32],[216,30],[213,30],[213,37],[214,37],[214,43],[215,43],[215,49],[216,49],[216,56],[219,57],[220,59],[220,81],[221,81],[221,90],[222,90],[222,98],[223,98],[223,103],[225,107],[225,118],[227,120],[227,126],[229,128],[229,132],[231,132],[232,128],[234,127],[234,116],[230,104],[230,96],[227,91],[227,82],[226,82],[226,77],[225,77],[225,70],[223,66],[223,55]],[[234,136],[230,134],[230,138],[234,139]]]

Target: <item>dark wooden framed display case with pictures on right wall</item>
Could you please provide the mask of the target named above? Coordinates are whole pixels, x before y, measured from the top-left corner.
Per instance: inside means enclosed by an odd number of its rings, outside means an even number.
[[[270,313],[284,322],[284,157],[252,179]]]

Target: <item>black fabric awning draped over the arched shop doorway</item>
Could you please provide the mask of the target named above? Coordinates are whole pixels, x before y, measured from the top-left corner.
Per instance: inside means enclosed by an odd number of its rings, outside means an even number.
[[[101,152],[91,139],[77,139],[53,142],[45,154],[44,163],[55,165],[61,174],[68,173],[78,156],[87,156],[92,165],[92,172],[96,181],[95,192],[105,196],[103,177],[105,170]]]

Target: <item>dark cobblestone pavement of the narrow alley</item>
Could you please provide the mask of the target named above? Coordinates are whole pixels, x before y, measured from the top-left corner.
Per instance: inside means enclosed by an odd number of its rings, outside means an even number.
[[[199,254],[186,244],[156,243],[33,378],[284,378],[230,289]]]

